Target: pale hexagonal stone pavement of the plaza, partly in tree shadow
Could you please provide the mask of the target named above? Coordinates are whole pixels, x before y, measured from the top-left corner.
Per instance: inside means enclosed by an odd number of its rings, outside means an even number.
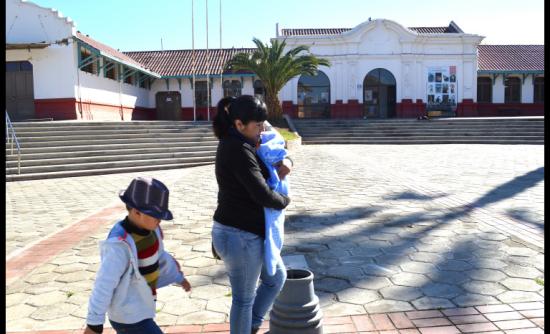
[[[326,145],[292,156],[284,254],[305,256],[326,315],[542,305],[542,146]],[[171,190],[166,248],[193,285],[158,291],[158,322],[223,326],[231,297],[210,254],[213,166],[140,174]],[[83,326],[98,241],[123,217],[116,194],[136,175],[7,183],[8,331]],[[47,252],[55,240],[65,246]]]

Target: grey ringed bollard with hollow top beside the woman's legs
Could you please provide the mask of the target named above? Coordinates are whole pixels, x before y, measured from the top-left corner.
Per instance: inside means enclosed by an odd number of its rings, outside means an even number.
[[[269,313],[269,334],[322,334],[323,312],[313,289],[313,273],[287,270],[287,279]]]

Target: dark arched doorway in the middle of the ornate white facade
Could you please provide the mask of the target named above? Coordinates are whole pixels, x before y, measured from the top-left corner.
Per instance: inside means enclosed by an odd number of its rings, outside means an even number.
[[[363,80],[363,116],[395,117],[395,77],[390,71],[376,68]]]

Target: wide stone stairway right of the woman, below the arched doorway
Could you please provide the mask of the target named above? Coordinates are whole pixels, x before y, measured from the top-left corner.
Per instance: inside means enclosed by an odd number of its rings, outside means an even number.
[[[544,117],[292,120],[312,144],[544,144]]]

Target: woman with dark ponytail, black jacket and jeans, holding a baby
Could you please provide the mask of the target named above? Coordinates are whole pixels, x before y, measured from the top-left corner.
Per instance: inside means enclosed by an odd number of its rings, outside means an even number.
[[[274,276],[263,265],[264,207],[284,209],[290,198],[271,190],[269,171],[256,155],[256,146],[267,119],[265,103],[254,96],[224,98],[218,103],[214,134],[218,207],[214,213],[212,242],[223,260],[232,290],[232,334],[256,333],[286,279],[282,261]],[[279,168],[290,172],[285,159]],[[260,285],[256,288],[258,279]]]

